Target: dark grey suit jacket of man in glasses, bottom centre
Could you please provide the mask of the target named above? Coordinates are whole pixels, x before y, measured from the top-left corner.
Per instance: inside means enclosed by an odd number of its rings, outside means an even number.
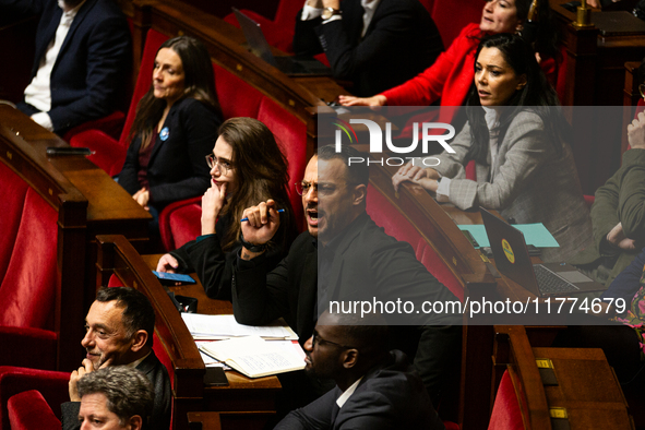
[[[336,399],[343,392],[336,386],[290,413],[276,429],[444,429],[407,357],[398,350],[390,354],[387,360],[366,373],[342,408]]]

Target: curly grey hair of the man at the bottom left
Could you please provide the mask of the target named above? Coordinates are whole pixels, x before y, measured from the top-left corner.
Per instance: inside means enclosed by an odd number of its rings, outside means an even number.
[[[139,415],[143,420],[143,429],[147,428],[153,414],[155,392],[141,371],[124,366],[111,366],[86,373],[76,386],[81,401],[87,394],[105,395],[107,408],[119,417],[121,427]]]

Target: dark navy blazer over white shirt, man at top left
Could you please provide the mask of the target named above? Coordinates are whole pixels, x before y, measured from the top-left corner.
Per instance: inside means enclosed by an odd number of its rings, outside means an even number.
[[[56,0],[0,0],[0,8],[39,13],[32,79],[56,35],[62,9]],[[86,0],[72,22],[51,70],[53,131],[61,133],[116,110],[130,76],[132,47],[126,16],[114,0]]]

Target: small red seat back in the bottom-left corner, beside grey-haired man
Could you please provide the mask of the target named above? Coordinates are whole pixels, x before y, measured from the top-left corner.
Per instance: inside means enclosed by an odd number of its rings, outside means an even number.
[[[12,430],[58,430],[61,422],[43,394],[29,390],[9,399],[9,422]]]

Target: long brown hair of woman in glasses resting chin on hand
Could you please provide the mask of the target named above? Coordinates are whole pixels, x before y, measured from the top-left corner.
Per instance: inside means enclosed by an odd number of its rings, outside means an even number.
[[[253,118],[230,118],[219,127],[219,138],[232,148],[231,164],[237,175],[237,189],[220,215],[231,217],[230,227],[224,234],[222,248],[230,250],[237,242],[241,226],[237,220],[250,206],[273,199],[279,208],[283,236],[282,243],[289,243],[295,237],[294,212],[287,195],[289,179],[288,162],[283,155],[275,136],[262,122]],[[289,228],[291,227],[291,228]],[[270,243],[271,244],[271,243]]]

